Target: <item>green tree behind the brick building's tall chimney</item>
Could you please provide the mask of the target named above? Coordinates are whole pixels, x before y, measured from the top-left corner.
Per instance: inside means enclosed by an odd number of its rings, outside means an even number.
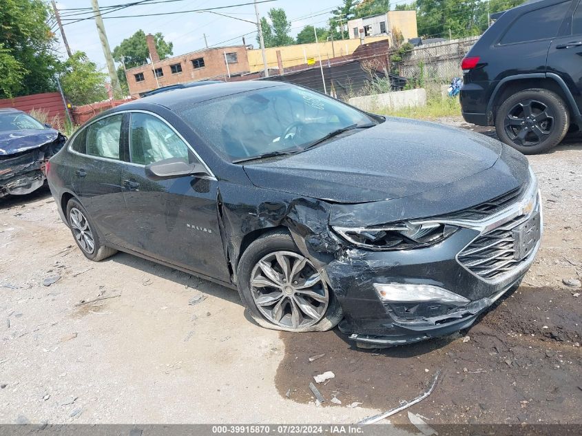
[[[160,32],[154,34],[154,41],[156,42],[156,51],[160,59],[166,59],[167,56],[174,54],[174,43],[166,42],[164,35]],[[138,30],[131,37],[121,41],[116,48],[113,49],[113,59],[118,62],[125,63],[125,68],[139,67],[148,63],[149,49],[145,41],[145,32]]]

